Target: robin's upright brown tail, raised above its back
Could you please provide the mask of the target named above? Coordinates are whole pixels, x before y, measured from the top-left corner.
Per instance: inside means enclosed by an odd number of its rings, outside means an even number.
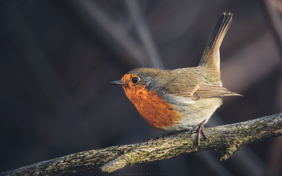
[[[229,27],[229,24],[232,21],[232,14],[225,12],[219,18],[213,34],[211,35],[210,41],[206,46],[202,59],[199,63],[199,66],[209,66],[215,68],[216,71],[220,73],[219,65],[219,47],[221,45],[222,39]]]

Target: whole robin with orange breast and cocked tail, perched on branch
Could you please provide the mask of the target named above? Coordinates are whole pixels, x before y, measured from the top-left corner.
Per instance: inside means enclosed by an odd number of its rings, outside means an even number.
[[[124,88],[129,100],[153,128],[169,132],[145,139],[147,148],[154,140],[191,131],[190,137],[198,132],[199,151],[201,133],[208,139],[204,123],[221,106],[222,97],[239,95],[223,88],[220,79],[219,47],[231,21],[231,13],[221,15],[197,67],[135,68],[120,81],[110,83]]]

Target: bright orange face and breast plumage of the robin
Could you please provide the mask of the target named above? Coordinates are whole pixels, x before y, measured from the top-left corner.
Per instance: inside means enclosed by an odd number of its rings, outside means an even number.
[[[136,78],[138,81],[135,83]],[[136,74],[126,74],[122,77],[122,83],[125,83],[122,85],[125,94],[140,115],[158,130],[160,130],[158,127],[177,123],[182,117],[178,111],[174,111],[177,108],[162,99],[156,91],[148,91],[147,85],[140,81],[140,77]]]

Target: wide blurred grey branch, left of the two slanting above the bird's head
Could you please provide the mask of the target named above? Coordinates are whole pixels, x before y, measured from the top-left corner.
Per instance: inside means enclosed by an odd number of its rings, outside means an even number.
[[[97,3],[91,0],[72,2],[82,14],[85,14],[88,24],[95,29],[98,24],[100,31],[106,36],[105,39],[110,39],[110,43],[115,44],[115,47],[118,46],[116,50],[125,52],[133,60],[133,63],[138,63],[136,65],[144,67],[151,63],[144,48],[129,35],[127,28],[119,21],[112,19]],[[120,51],[120,47],[122,51]]]

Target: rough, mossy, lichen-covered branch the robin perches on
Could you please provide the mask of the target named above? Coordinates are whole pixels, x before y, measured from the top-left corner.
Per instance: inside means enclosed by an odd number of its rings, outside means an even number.
[[[246,122],[206,128],[211,140],[201,139],[199,151],[223,150],[226,160],[244,144],[282,135],[282,113]],[[75,153],[49,161],[0,173],[2,175],[71,175],[98,170],[112,172],[125,166],[162,161],[197,152],[196,135],[190,133],[159,139],[146,147],[140,144],[113,146],[98,150]]]

